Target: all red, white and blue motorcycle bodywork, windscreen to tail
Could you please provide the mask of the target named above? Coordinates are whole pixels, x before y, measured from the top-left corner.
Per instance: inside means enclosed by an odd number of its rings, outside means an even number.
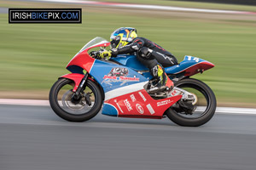
[[[95,42],[96,44],[93,44]],[[166,109],[175,104],[182,96],[153,99],[144,87],[151,79],[148,68],[142,65],[134,55],[121,55],[113,58],[112,60],[116,62],[113,63],[94,59],[88,54],[90,48],[108,47],[109,45],[110,43],[102,38],[95,38],[87,43],[68,63],[67,70],[72,73],[62,77],[75,82],[73,88],[73,92],[75,92],[84,77],[83,71],[87,71],[93,81],[96,81],[105,93],[102,108],[102,114],[104,115],[162,118]],[[206,60],[186,56],[179,65],[165,69],[167,74],[183,72],[185,76],[192,76],[213,66],[212,63]]]

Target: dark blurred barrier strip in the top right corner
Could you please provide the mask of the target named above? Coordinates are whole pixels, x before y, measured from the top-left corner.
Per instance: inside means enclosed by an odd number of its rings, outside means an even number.
[[[256,0],[176,0],[176,1],[190,1],[203,3],[230,3],[242,5],[256,5]]]

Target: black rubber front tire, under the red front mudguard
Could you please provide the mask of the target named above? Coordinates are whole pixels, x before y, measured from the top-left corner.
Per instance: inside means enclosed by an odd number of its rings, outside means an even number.
[[[95,102],[94,105],[91,107],[90,111],[75,115],[71,112],[64,111],[61,106],[58,103],[58,93],[61,90],[62,87],[64,87],[67,84],[72,84],[73,81],[66,79],[66,78],[60,78],[55,84],[52,86],[49,92],[49,104],[53,111],[55,111],[55,114],[57,116],[60,116],[61,118],[69,121],[69,122],[84,122],[88,121],[102,109],[102,94],[100,88],[96,85],[95,82],[92,82],[91,80],[87,80],[87,86],[91,89],[95,96]]]

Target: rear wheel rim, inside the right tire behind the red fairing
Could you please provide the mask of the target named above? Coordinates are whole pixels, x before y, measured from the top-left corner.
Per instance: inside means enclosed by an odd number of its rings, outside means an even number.
[[[192,103],[194,103],[195,105],[195,111],[192,111],[192,114],[189,114],[186,111],[174,110],[178,116],[182,116],[186,119],[198,119],[207,114],[207,111],[210,109],[211,106],[211,99],[208,97],[209,94],[207,94],[207,92],[203,88],[201,88],[197,84],[192,83],[177,85],[177,88],[183,88],[190,94],[195,95],[197,100],[192,101]]]

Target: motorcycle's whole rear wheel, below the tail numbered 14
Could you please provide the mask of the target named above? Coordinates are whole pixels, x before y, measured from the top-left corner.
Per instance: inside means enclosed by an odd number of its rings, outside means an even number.
[[[195,99],[190,103],[194,110],[188,111],[183,108],[183,105],[179,105],[184,103],[181,99],[166,111],[166,116],[172,122],[185,127],[198,127],[212,118],[216,110],[216,98],[206,83],[186,78],[177,82],[176,87],[183,88],[195,96]]]

